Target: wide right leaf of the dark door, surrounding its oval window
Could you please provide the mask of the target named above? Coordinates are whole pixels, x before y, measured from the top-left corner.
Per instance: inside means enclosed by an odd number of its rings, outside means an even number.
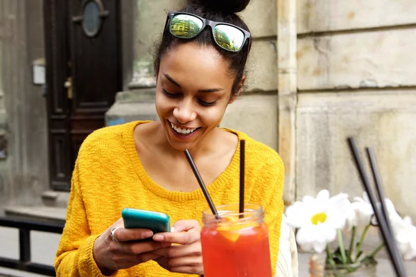
[[[73,162],[80,143],[95,129],[104,126],[105,111],[121,89],[119,39],[119,1],[104,0],[100,6],[105,17],[96,35],[89,37],[83,28],[87,21],[83,1],[71,0],[71,64],[73,99],[71,100],[71,151]],[[93,2],[91,2],[93,3]],[[98,3],[98,4],[97,4]],[[80,18],[83,17],[81,20]]]

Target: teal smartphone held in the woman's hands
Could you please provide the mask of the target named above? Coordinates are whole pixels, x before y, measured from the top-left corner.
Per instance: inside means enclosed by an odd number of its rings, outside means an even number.
[[[153,233],[171,231],[171,220],[164,213],[137,210],[135,208],[123,208],[121,216],[126,229],[150,229]]]

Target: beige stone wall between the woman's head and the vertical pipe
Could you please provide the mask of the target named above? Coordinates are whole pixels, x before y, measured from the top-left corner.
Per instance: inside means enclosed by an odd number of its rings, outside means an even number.
[[[252,33],[247,89],[229,105],[222,127],[239,129],[277,150],[277,1],[251,1],[241,17]]]

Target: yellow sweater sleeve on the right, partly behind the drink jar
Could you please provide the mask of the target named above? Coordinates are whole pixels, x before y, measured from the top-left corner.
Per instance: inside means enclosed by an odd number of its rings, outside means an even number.
[[[250,203],[261,204],[264,208],[264,220],[268,224],[272,272],[275,274],[279,253],[281,217],[284,210],[284,165],[280,157],[277,154],[270,157],[257,172],[257,176]]]

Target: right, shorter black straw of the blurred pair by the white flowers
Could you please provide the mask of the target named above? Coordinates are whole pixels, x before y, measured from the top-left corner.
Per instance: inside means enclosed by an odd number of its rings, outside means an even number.
[[[381,204],[381,212],[383,213],[384,217],[385,217],[385,224],[387,226],[388,232],[390,233],[390,237],[392,239],[394,239],[394,234],[392,231],[392,224],[390,223],[390,217],[388,216],[388,211],[387,211],[387,207],[385,206],[385,194],[384,194],[384,190],[383,190],[383,183],[381,181],[381,174],[380,174],[380,170],[379,170],[379,166],[377,165],[377,160],[376,160],[376,154],[373,150],[373,148],[369,147],[369,148],[365,148],[366,152],[367,152],[367,157],[370,161],[370,167],[372,170],[372,175],[374,178],[374,183],[376,184],[376,191],[377,194],[379,195],[379,199],[380,199],[380,204]],[[397,248],[397,245],[394,244],[394,250],[396,252],[396,256],[400,257],[400,253],[399,253],[399,249]],[[401,267],[401,271],[405,272],[406,269],[404,267],[404,264],[402,262],[401,259],[399,259],[399,267]]]

